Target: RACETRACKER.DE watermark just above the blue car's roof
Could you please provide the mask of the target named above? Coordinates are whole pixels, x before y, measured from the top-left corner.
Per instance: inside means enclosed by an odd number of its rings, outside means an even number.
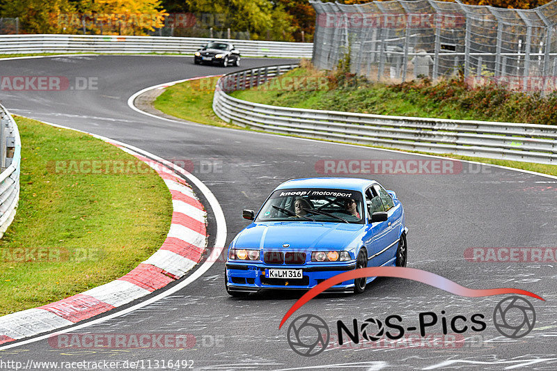
[[[454,175],[487,174],[489,166],[455,159],[321,159],[315,172],[334,174]]]

